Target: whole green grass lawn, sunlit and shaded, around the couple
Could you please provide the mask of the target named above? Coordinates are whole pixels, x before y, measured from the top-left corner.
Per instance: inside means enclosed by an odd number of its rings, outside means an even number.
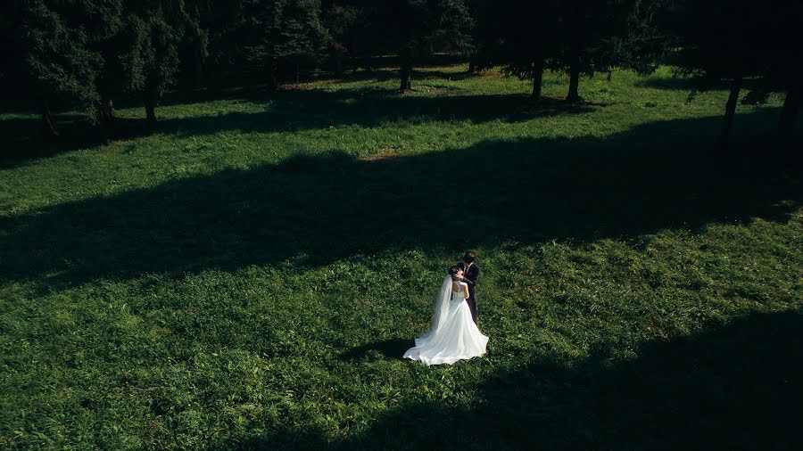
[[[0,115],[0,448],[803,445],[780,100],[461,70]],[[487,355],[402,361],[469,248]]]

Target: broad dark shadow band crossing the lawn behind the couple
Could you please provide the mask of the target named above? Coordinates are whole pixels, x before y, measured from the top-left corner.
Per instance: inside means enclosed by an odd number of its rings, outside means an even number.
[[[743,119],[747,120],[747,119]],[[718,118],[606,139],[488,141],[410,157],[342,152],[224,170],[0,217],[0,283],[40,290],[98,277],[228,271],[359,253],[517,240],[633,238],[709,223],[788,220],[800,180],[766,143],[706,159]],[[453,233],[470,217],[472,233]]]

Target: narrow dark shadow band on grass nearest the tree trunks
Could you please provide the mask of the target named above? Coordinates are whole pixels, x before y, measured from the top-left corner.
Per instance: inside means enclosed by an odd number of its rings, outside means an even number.
[[[216,94],[202,92],[198,95],[215,97]],[[526,94],[402,95],[395,90],[379,87],[279,92],[254,87],[250,90],[234,90],[227,95],[229,99],[243,98],[251,102],[262,102],[264,109],[257,112],[161,119],[156,127],[149,127],[144,119],[116,119],[112,125],[106,127],[91,127],[76,119],[75,115],[60,115],[57,119],[61,122],[59,128],[62,136],[58,138],[44,137],[38,119],[0,121],[0,168],[16,167],[30,160],[101,145],[113,139],[132,139],[154,133],[209,135],[231,130],[287,132],[342,125],[377,127],[405,119],[420,122],[455,119],[471,119],[476,122],[495,119],[520,121],[543,116],[588,113],[603,106],[549,99],[534,104]],[[184,101],[189,102],[190,99],[186,98]]]

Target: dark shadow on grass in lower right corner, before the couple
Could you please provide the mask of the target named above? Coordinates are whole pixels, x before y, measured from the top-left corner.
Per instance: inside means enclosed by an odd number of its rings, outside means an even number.
[[[231,448],[800,449],[801,330],[799,312],[752,314],[629,361],[501,371],[466,388],[474,405],[410,402],[348,439],[281,430]]]

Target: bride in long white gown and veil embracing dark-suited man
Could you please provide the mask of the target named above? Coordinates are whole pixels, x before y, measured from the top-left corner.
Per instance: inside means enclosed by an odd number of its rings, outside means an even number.
[[[408,349],[404,358],[419,360],[424,365],[451,365],[485,353],[488,337],[471,319],[471,310],[465,302],[468,284],[460,282],[462,276],[459,266],[449,268],[435,299],[429,332],[416,339],[416,346]]]

